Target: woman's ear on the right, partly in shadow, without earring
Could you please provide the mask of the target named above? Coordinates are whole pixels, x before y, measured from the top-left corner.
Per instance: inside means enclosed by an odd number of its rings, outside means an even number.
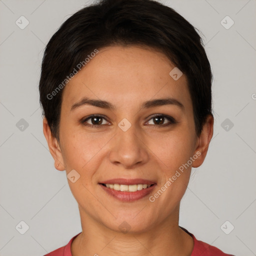
[[[213,116],[211,114],[207,115],[201,133],[197,137],[194,155],[197,155],[198,157],[193,161],[192,167],[199,167],[205,159],[213,134],[213,122]]]

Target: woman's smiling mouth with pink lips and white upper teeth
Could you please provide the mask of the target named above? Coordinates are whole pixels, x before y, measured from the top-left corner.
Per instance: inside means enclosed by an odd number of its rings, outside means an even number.
[[[123,178],[105,180],[98,184],[107,194],[121,201],[141,199],[156,186],[156,182],[151,180]]]

